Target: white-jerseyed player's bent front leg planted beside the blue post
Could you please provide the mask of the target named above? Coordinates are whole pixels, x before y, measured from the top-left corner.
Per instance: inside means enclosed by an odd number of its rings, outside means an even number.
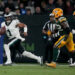
[[[11,60],[11,52],[10,52],[10,46],[12,46],[15,42],[17,41],[16,38],[13,39],[6,39],[4,40],[4,50],[7,56],[7,61],[5,62],[5,65],[11,64],[12,60]]]

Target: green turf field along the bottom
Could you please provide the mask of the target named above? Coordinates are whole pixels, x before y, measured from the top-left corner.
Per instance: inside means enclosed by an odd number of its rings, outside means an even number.
[[[54,69],[36,64],[17,64],[0,66],[0,75],[75,75],[75,67],[57,65]]]

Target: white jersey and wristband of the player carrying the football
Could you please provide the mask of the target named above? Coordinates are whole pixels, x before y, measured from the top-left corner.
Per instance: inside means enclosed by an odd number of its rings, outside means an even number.
[[[7,15],[5,15],[5,17],[6,16]],[[24,41],[25,39],[20,36],[18,24],[20,24],[19,20],[15,19],[15,20],[12,20],[11,22],[3,22],[1,24],[1,27],[6,28],[6,35],[9,39],[16,38],[16,39],[21,39],[21,41]],[[26,25],[24,25],[23,27],[27,30]]]

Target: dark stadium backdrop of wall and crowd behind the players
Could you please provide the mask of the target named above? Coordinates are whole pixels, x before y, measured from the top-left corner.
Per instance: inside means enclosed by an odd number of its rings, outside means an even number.
[[[28,26],[28,36],[25,44],[22,43],[22,45],[32,53],[44,56],[45,40],[43,39],[42,27],[49,20],[49,13],[56,7],[63,9],[70,27],[75,29],[75,17],[73,16],[75,0],[0,0],[0,24],[4,20],[3,14],[7,12],[18,16],[19,20]],[[0,37],[0,63],[3,63],[3,57],[4,61],[6,59],[3,54],[3,37]],[[54,51],[56,53],[56,50]],[[67,60],[68,52],[64,47],[61,49],[58,62],[67,62]],[[15,62],[35,61],[17,55]]]

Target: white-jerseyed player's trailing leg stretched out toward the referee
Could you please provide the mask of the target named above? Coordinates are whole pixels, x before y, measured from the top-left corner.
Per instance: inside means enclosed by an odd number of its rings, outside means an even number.
[[[34,60],[37,60],[37,62],[39,62],[40,64],[42,64],[42,58],[40,56],[36,56],[34,54],[32,54],[31,52],[28,52],[26,50],[24,50],[23,46],[21,45],[21,41],[19,40],[17,42],[17,49],[19,50],[19,52],[23,55],[23,56],[26,56],[28,58],[31,58],[31,59],[34,59]]]

